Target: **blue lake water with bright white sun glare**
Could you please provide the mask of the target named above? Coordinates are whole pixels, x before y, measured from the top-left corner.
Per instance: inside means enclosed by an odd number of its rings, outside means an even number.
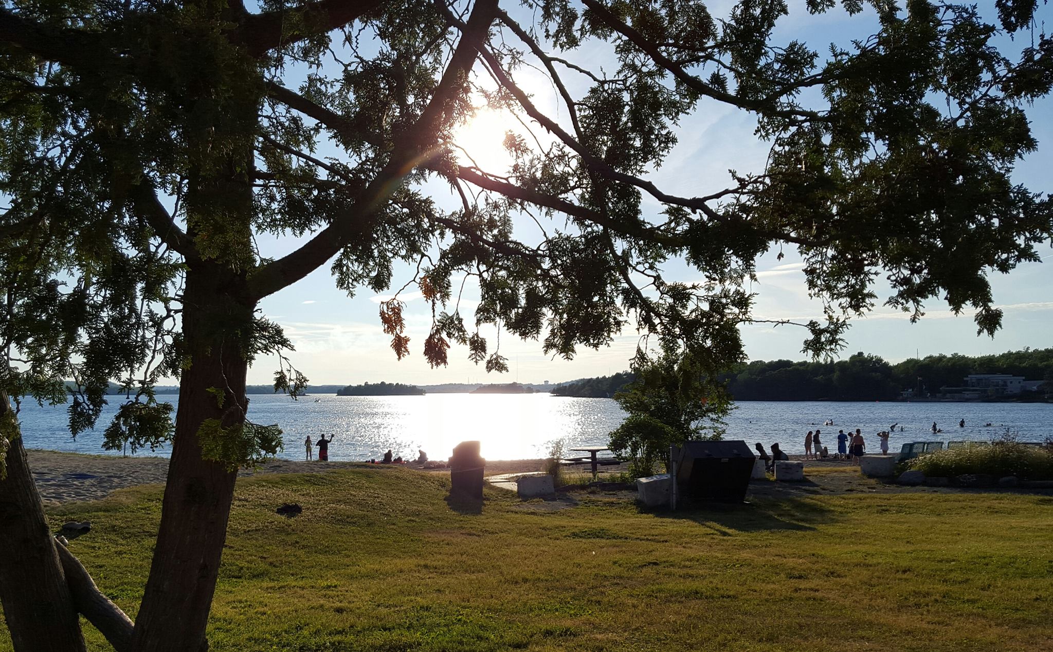
[[[178,396],[167,398],[178,404]],[[609,398],[565,398],[549,394],[429,394],[426,396],[312,395],[292,400],[284,395],[252,395],[249,417],[256,423],[277,423],[284,431],[285,450],[279,457],[302,459],[303,438],[335,434],[330,458],[379,458],[388,449],[416,458],[423,449],[432,459],[446,459],[460,441],[477,439],[483,457],[531,459],[547,456],[551,442],[564,439],[568,448],[605,446],[608,433],[624,413]],[[65,406],[43,408],[23,402],[19,419],[26,448],[105,453],[102,429],[122,397],[111,397],[99,419],[100,428],[76,441],[66,430]],[[959,419],[966,428],[958,428]],[[833,419],[836,426],[823,427]],[[932,436],[936,421],[943,433]],[[879,430],[898,422],[903,432],[890,438],[898,451],[905,441],[928,439],[991,439],[1007,429],[1021,440],[1053,437],[1051,403],[945,402],[818,402],[742,401],[728,419],[728,439],[778,441],[790,454],[804,452],[804,433],[822,430],[822,441],[836,449],[839,429],[859,428],[868,449],[876,451]],[[992,423],[986,427],[986,423]],[[119,455],[120,453],[114,453]],[[140,451],[166,456],[168,449]]]

